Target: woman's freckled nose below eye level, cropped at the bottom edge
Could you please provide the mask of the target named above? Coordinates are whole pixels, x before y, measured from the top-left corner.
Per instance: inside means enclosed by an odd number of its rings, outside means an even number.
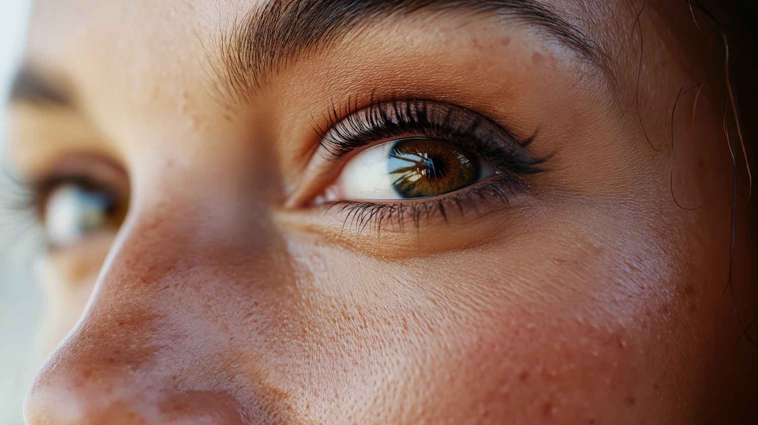
[[[258,242],[246,238],[241,265],[242,248],[227,232],[208,229],[213,220],[172,212],[171,220],[146,214],[150,222],[124,230],[85,314],[27,392],[27,423],[292,422],[268,397],[283,399],[262,379],[265,364],[240,361],[243,345],[233,339],[242,331],[227,317],[245,310],[265,315],[255,305],[267,302],[260,282],[270,274],[266,267],[277,267],[265,258],[275,244],[263,232]],[[231,273],[257,278],[243,286],[239,278],[224,279]],[[265,349],[255,340],[262,333],[247,333],[252,339],[244,346]]]

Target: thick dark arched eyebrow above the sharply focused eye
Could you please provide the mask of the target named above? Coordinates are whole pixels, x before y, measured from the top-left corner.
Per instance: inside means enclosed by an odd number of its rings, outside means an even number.
[[[215,52],[220,58],[214,61],[214,53],[208,53],[215,64],[215,91],[227,105],[244,104],[301,55],[323,52],[360,27],[420,11],[499,14],[522,21],[545,30],[583,61],[608,70],[594,42],[537,0],[273,0],[222,34]]]

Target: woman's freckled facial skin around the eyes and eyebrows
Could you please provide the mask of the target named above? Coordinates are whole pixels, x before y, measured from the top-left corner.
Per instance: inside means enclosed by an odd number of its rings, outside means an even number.
[[[555,3],[615,23],[603,43],[618,86],[513,24],[421,17],[293,64],[229,111],[208,93],[202,45],[235,13],[225,2],[37,2],[29,57],[75,88],[92,136],[34,133],[50,118],[14,105],[16,139],[47,139],[18,142],[14,158],[33,176],[64,155],[105,156],[132,199],[117,236],[47,260],[67,294],[50,351],[64,342],[30,388],[27,423],[751,423],[756,349],[735,343],[722,294],[722,87],[703,92],[694,127],[682,99],[675,134],[689,148],[672,178],[669,111],[688,68],[656,32],[666,22],[642,21],[656,152],[634,105],[634,11]],[[549,170],[507,207],[418,230],[356,234],[283,208],[307,184],[311,117],[382,91],[539,129],[531,148],[553,154]],[[706,206],[679,208],[672,181],[680,203]],[[740,214],[745,234],[750,208]],[[753,247],[738,239],[734,265],[746,315]]]

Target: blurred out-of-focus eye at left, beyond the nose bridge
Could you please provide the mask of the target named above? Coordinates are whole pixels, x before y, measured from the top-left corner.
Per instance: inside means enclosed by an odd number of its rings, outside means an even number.
[[[75,180],[58,183],[42,205],[50,245],[77,245],[94,233],[117,230],[124,220],[124,203],[112,189]]]

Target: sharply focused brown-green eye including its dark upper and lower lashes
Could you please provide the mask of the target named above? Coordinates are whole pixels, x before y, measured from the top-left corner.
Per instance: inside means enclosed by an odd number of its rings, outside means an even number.
[[[528,197],[529,176],[547,159],[529,148],[536,132],[519,137],[482,114],[431,100],[333,105],[325,120],[313,123],[321,147],[293,198],[324,205],[358,233],[503,210]]]

